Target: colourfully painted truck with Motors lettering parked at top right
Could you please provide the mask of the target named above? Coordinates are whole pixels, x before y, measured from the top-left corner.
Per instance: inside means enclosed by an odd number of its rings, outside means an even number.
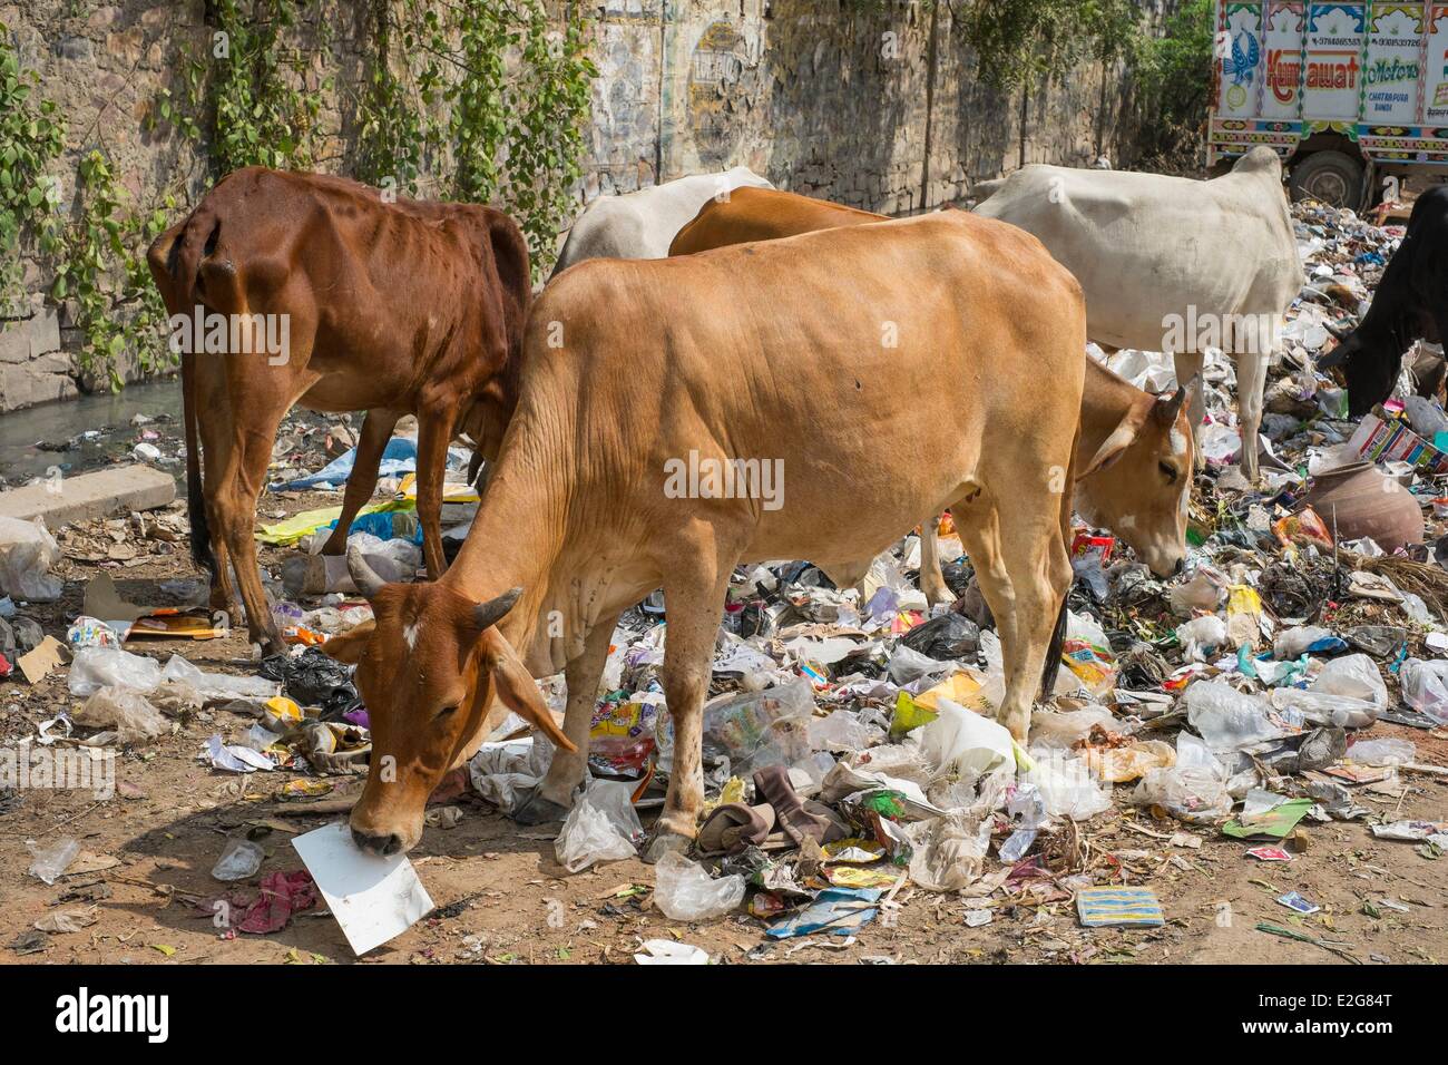
[[[1218,0],[1208,164],[1257,145],[1295,199],[1363,209],[1448,178],[1448,3]]]

